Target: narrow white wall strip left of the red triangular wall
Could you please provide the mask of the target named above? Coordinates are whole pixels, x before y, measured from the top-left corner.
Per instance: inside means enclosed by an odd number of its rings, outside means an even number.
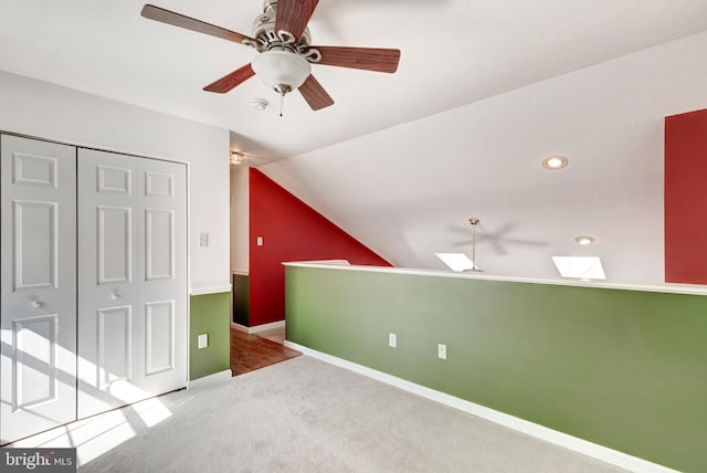
[[[247,166],[231,166],[231,271],[247,273],[249,245],[249,170]]]

